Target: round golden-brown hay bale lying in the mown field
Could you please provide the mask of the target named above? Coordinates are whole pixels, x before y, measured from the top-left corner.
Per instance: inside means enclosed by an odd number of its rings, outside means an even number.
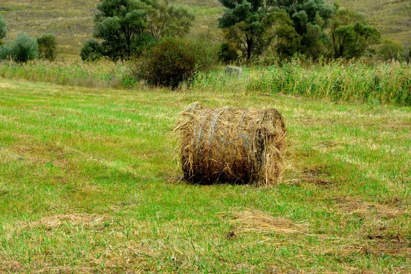
[[[205,108],[193,103],[175,127],[184,179],[269,185],[283,171],[286,128],[274,108]]]

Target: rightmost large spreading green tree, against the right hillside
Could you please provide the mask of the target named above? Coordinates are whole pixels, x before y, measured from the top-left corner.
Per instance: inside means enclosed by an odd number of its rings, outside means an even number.
[[[363,17],[351,10],[338,10],[330,30],[334,58],[357,58],[371,45],[379,43],[381,34]]]

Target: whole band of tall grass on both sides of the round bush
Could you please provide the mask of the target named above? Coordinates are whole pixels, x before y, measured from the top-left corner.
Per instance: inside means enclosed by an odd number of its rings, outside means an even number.
[[[69,86],[142,88],[127,63],[28,62],[0,63],[0,77],[28,79]],[[190,84],[195,92],[284,94],[297,97],[411,105],[411,64],[381,62],[329,62],[245,68],[242,77],[224,70],[198,73]]]

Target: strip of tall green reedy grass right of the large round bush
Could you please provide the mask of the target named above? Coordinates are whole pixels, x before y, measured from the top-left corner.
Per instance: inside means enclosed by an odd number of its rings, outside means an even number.
[[[239,78],[223,71],[199,74],[194,90],[240,93],[282,93],[336,101],[411,105],[411,65],[400,62],[374,65],[361,62],[286,64],[246,69]]]

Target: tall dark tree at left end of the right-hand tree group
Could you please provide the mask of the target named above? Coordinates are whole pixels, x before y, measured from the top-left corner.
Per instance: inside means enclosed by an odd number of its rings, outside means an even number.
[[[258,58],[273,40],[271,27],[277,12],[261,0],[220,0],[228,8],[219,18],[229,45],[242,53],[245,62]],[[270,2],[271,3],[271,2]]]

